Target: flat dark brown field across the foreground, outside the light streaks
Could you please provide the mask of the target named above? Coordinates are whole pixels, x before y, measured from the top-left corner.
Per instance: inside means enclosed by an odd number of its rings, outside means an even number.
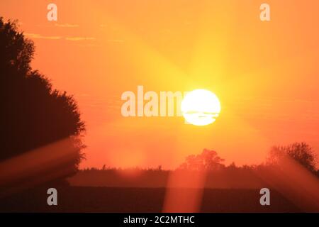
[[[0,212],[161,212],[165,194],[164,188],[61,187],[57,191],[57,206],[47,205],[46,189],[36,189],[0,199]],[[261,206],[257,189],[205,189],[201,212],[300,211],[271,192],[271,206]]]

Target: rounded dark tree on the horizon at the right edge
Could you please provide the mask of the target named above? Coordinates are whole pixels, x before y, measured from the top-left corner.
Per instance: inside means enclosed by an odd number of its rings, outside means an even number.
[[[274,146],[269,151],[267,162],[272,165],[279,165],[284,157],[290,157],[300,163],[308,170],[315,172],[315,153],[307,143],[292,143],[286,146]]]

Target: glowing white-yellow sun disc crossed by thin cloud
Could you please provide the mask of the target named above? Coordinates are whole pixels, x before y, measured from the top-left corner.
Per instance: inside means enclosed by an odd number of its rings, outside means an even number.
[[[181,101],[181,113],[187,123],[206,126],[220,114],[220,101],[216,94],[205,89],[188,92]]]

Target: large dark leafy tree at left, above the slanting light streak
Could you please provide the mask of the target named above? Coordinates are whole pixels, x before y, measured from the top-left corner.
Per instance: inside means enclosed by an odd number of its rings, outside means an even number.
[[[52,89],[43,74],[31,69],[34,50],[15,21],[0,18],[0,161],[68,138],[74,149],[64,163],[72,170],[69,175],[83,157],[84,122],[73,97]]]

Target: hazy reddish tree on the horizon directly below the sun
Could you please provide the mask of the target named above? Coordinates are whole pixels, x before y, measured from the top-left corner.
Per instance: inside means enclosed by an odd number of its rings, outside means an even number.
[[[189,155],[184,163],[179,166],[183,170],[219,170],[225,167],[224,160],[218,156],[215,150],[204,149],[199,155]]]

